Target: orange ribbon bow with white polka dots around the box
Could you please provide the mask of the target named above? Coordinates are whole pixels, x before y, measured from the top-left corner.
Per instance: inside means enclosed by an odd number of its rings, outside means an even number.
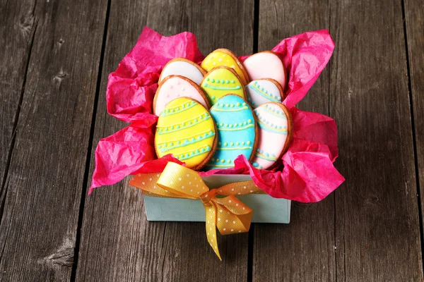
[[[199,173],[172,162],[167,164],[163,173],[139,174],[129,184],[140,188],[147,196],[201,200],[206,212],[206,237],[219,259],[216,228],[221,235],[243,233],[249,231],[252,221],[253,209],[235,195],[264,194],[252,180],[210,190]]]

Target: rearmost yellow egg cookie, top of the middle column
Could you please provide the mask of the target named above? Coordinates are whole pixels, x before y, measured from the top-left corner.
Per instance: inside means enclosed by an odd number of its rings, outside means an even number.
[[[247,75],[242,62],[240,62],[232,51],[228,49],[216,49],[211,54],[208,54],[204,61],[201,62],[201,68],[204,68],[205,71],[211,71],[218,66],[232,68],[240,77],[243,85],[247,85],[249,82],[249,75]]]

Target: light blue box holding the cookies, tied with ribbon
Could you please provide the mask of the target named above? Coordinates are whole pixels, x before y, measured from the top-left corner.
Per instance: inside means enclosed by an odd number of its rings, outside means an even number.
[[[203,177],[209,188],[240,181],[252,180],[247,175],[214,175]],[[253,209],[252,222],[289,223],[290,200],[276,199],[269,195],[237,196]],[[205,221],[205,208],[200,200],[144,196],[148,221]]]

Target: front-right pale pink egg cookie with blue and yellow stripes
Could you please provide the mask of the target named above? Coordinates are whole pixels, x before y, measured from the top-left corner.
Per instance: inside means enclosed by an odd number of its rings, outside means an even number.
[[[259,140],[252,164],[256,168],[273,168],[290,145],[293,121],[281,103],[269,102],[254,109],[259,125]]]

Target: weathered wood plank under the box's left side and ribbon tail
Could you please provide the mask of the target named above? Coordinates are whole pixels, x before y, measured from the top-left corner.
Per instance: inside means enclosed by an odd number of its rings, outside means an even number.
[[[93,152],[98,140],[125,126],[107,115],[107,75],[134,46],[144,25],[167,36],[194,32],[204,54],[219,47],[251,54],[253,8],[253,1],[112,1]],[[91,173],[88,184],[90,178]],[[86,197],[78,281],[247,280],[247,234],[221,238],[220,262],[206,241],[204,223],[146,221],[141,191],[128,180]]]

